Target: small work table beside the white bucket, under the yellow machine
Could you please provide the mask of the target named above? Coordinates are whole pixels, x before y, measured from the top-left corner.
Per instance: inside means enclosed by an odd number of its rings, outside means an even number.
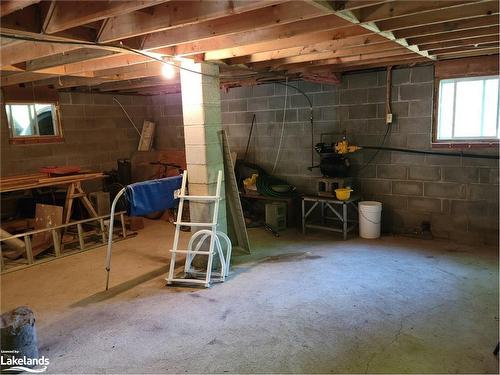
[[[352,206],[356,211],[358,206],[356,202],[359,201],[359,196],[351,195],[351,197],[346,201],[340,201],[333,197],[322,197],[322,196],[304,196],[302,197],[302,233],[306,233],[306,228],[323,229],[332,232],[342,233],[344,240],[347,239],[347,233],[352,231],[358,220],[349,220],[347,217],[347,209]],[[308,202],[312,203],[310,207],[307,208]],[[307,219],[314,212],[314,210],[319,207],[320,209],[320,224],[307,223]],[[307,209],[307,211],[306,211]],[[332,213],[332,215],[328,215]],[[327,221],[340,221],[342,224],[341,228],[336,228],[332,225],[327,225]],[[349,223],[353,223],[349,226]]]

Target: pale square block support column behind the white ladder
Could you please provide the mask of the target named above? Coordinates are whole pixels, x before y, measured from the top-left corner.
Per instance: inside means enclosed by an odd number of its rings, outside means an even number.
[[[217,174],[224,173],[219,67],[195,62],[183,62],[182,67],[191,70],[180,71],[189,194],[214,195]],[[191,221],[211,222],[213,203],[189,202],[189,211]],[[227,233],[224,184],[218,223],[218,230]]]

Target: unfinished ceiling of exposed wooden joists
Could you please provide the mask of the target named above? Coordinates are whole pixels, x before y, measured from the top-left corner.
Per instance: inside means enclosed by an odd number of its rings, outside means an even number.
[[[22,0],[0,9],[2,87],[179,91],[152,52],[217,63],[221,82],[237,85],[285,75],[331,81],[499,50],[497,0]]]

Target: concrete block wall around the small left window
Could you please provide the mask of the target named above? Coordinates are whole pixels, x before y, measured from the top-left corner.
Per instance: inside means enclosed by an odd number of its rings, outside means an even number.
[[[155,120],[152,98],[127,95],[118,95],[117,98],[139,131],[144,120]],[[110,170],[116,168],[117,159],[130,158],[137,150],[140,137],[113,101],[113,95],[61,92],[59,99],[64,142],[51,144],[9,144],[2,103],[2,176],[36,172],[47,165]]]

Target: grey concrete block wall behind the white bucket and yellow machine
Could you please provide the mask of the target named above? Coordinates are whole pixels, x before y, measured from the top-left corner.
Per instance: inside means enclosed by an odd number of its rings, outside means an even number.
[[[433,67],[393,71],[394,123],[385,145],[431,150]],[[315,139],[334,141],[346,134],[353,144],[376,146],[385,125],[386,73],[345,75],[340,85],[291,82],[314,105]],[[233,151],[244,154],[256,115],[249,162],[268,172],[274,164],[283,119],[285,88],[278,84],[230,89],[222,94],[222,119]],[[310,125],[307,100],[289,89],[283,150],[276,175],[305,193],[315,190],[310,172]],[[441,151],[441,150],[438,150]],[[497,150],[476,149],[497,154]],[[436,237],[474,244],[498,243],[498,161],[451,156],[363,150],[350,155],[355,188],[364,199],[383,203],[383,229],[412,232],[423,221]],[[366,165],[368,161],[370,164]],[[315,156],[315,163],[319,158]],[[366,166],[365,166],[366,165]],[[360,168],[360,166],[364,166]]]

